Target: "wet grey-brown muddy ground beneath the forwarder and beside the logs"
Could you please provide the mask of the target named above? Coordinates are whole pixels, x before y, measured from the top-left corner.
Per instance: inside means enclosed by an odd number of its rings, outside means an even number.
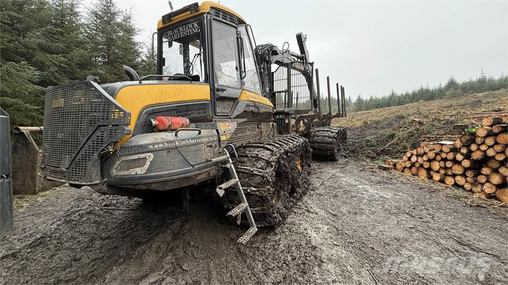
[[[250,242],[206,196],[62,187],[16,199],[2,284],[505,284],[508,207],[354,160],[314,162],[287,222]],[[497,202],[498,204],[498,202]]]

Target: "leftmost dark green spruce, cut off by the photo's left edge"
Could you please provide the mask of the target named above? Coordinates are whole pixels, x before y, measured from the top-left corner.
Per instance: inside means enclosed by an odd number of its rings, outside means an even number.
[[[33,64],[39,50],[39,27],[49,23],[49,5],[43,0],[2,1],[0,10],[0,106],[11,126],[42,125],[43,74]],[[11,127],[11,130],[13,128]]]

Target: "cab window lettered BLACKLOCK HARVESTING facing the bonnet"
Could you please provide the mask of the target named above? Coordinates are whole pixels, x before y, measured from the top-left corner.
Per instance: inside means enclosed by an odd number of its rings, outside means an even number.
[[[203,21],[195,20],[163,32],[162,74],[193,76],[194,81],[205,80],[202,29]]]

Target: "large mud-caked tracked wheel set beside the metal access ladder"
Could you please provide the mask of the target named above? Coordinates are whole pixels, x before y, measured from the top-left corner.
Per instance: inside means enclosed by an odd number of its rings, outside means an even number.
[[[236,150],[236,172],[257,226],[281,224],[309,186],[311,149],[307,139],[278,135]],[[239,203],[236,189],[227,189],[224,206],[232,209]]]

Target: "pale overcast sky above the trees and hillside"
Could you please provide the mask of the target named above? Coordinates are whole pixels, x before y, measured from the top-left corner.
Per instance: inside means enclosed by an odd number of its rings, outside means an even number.
[[[93,1],[93,0],[87,0]],[[85,2],[85,4],[86,4]],[[172,1],[179,9],[195,1]],[[117,0],[148,41],[167,0]],[[420,85],[508,73],[508,1],[225,1],[252,26],[256,41],[298,52],[307,34],[311,61],[355,98]],[[325,89],[323,89],[325,90]],[[333,90],[333,88],[332,88]]]

